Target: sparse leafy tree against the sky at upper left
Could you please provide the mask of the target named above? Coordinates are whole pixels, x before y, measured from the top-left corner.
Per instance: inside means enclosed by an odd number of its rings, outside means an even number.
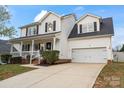
[[[12,38],[16,31],[13,26],[10,26],[11,15],[7,6],[0,5],[0,36]]]

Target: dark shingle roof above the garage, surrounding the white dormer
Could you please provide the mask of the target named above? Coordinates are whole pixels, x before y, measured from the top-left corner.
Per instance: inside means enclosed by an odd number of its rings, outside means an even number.
[[[68,38],[98,36],[98,35],[114,35],[113,21],[111,17],[102,19],[100,25],[100,31],[97,32],[78,34],[77,31],[78,31],[77,24],[75,24]]]

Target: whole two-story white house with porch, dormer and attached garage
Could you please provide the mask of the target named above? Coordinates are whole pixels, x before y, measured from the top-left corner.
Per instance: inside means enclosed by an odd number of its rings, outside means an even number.
[[[20,38],[10,40],[11,54],[24,58],[30,55],[30,63],[33,58],[40,59],[39,50],[59,50],[60,59],[79,63],[107,63],[113,59],[112,18],[86,14],[77,20],[74,14],[48,12],[38,22],[20,29]]]

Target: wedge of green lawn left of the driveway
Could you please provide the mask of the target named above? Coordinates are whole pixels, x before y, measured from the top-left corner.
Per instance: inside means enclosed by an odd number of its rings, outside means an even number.
[[[23,67],[19,64],[0,65],[0,80],[4,80],[21,73],[31,71],[33,69],[35,68]]]

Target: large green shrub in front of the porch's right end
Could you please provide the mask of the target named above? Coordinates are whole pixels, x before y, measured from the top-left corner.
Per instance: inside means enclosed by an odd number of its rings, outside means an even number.
[[[54,64],[54,62],[59,59],[59,51],[57,50],[43,51],[42,56],[43,59],[46,60],[46,63]]]

